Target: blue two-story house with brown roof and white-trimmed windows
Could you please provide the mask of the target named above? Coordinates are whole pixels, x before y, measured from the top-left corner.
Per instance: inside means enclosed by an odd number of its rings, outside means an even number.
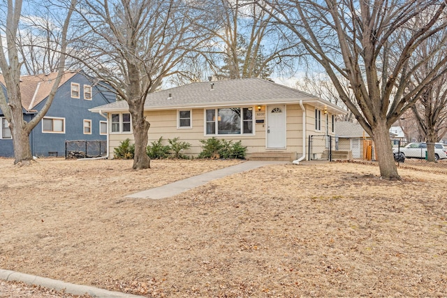
[[[20,77],[25,121],[41,110],[57,73]],[[0,86],[6,95],[3,76]],[[64,156],[66,140],[106,140],[107,119],[89,112],[91,107],[112,103],[115,96],[82,72],[66,72],[45,117],[31,131],[34,156]],[[8,121],[0,110],[0,156],[13,157],[13,141]]]

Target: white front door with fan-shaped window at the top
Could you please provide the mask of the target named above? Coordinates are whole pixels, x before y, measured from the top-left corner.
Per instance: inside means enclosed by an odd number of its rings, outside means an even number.
[[[267,108],[267,148],[286,148],[286,106]]]

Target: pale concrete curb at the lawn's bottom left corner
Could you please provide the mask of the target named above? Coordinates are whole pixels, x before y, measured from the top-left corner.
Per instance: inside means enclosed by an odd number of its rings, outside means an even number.
[[[101,298],[138,298],[144,296],[126,294],[122,292],[112,292],[109,290],[103,290],[89,285],[75,285],[74,283],[66,283],[64,281],[57,281],[56,279],[35,276],[31,274],[24,274],[11,270],[0,269],[0,279],[4,281],[21,281],[28,285],[41,285],[45,288],[54,289],[57,291],[65,290],[66,293],[72,295],[85,295],[88,294],[91,297]]]

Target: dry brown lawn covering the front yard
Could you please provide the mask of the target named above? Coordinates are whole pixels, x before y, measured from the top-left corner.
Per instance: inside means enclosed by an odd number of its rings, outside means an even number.
[[[163,200],[125,195],[238,161],[0,159],[0,268],[147,297],[445,297],[447,163],[268,165]]]

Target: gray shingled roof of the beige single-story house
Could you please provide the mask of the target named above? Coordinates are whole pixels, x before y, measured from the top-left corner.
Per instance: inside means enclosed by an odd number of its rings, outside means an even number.
[[[163,110],[184,107],[222,107],[231,105],[266,105],[272,103],[298,103],[314,101],[338,113],[342,109],[311,94],[268,80],[247,78],[212,82],[196,82],[148,94],[145,110]],[[117,112],[128,110],[125,100],[94,107],[91,112]]]

